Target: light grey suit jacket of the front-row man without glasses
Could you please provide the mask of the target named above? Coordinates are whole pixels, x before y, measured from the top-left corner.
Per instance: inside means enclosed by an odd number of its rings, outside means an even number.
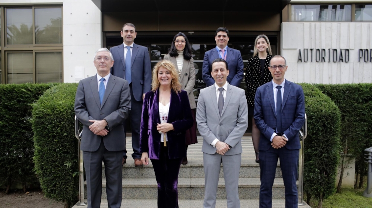
[[[216,153],[216,148],[210,143],[217,138],[231,146],[225,155],[242,153],[240,140],[248,127],[248,108],[244,90],[228,84],[221,116],[215,85],[201,90],[196,108],[196,122],[203,137],[202,152]]]

